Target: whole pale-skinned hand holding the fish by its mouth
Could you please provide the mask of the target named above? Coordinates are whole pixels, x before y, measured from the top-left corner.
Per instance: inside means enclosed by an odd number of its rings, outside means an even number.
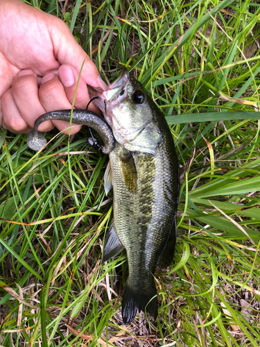
[[[21,3],[0,0],[0,126],[13,133],[28,133],[45,112],[85,109],[87,84],[106,88],[94,62],[57,17]],[[94,104],[89,110],[97,111]],[[64,121],[46,121],[40,131],[63,131]],[[71,134],[80,126],[73,126]],[[65,130],[64,133],[69,133]]]

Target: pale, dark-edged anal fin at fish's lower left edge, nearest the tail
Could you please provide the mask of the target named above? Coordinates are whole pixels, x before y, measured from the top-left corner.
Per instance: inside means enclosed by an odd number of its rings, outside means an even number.
[[[119,238],[116,235],[116,232],[114,230],[114,223],[112,221],[110,229],[105,235],[102,262],[107,262],[107,260],[110,260],[110,258],[115,257],[121,251],[123,251],[124,248],[125,247],[123,246],[123,244],[121,244]]]

